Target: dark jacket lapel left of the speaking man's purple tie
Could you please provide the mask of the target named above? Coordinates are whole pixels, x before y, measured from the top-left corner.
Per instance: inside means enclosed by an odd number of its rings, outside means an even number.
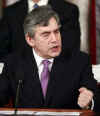
[[[36,96],[38,97],[38,100],[43,101],[43,94],[42,94],[42,88],[41,88],[39,75],[38,75],[38,68],[37,68],[32,50],[30,53],[28,52],[28,54],[26,55],[26,58],[24,59],[25,59],[24,61],[25,63],[23,65],[23,68],[24,68],[25,78],[28,78],[28,80],[30,81],[30,84],[32,84],[33,82],[33,84],[31,85],[31,91],[33,92],[34,90],[33,93],[36,94]]]

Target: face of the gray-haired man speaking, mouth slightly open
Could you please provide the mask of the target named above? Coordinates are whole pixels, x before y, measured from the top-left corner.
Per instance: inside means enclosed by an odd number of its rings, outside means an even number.
[[[33,38],[36,53],[43,58],[53,58],[61,52],[61,35],[59,26],[51,18],[48,26],[37,26]]]

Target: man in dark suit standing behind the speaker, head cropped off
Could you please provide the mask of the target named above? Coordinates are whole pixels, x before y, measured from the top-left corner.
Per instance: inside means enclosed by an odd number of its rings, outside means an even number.
[[[59,14],[61,20],[61,33],[63,49],[76,49],[80,47],[80,27],[78,8],[64,0],[20,0],[16,4],[4,9],[3,19],[0,21],[0,59],[9,53],[21,51],[27,47],[23,32],[24,18],[37,3],[39,6],[50,4]],[[66,37],[68,38],[66,40]],[[68,50],[68,51],[67,51]]]

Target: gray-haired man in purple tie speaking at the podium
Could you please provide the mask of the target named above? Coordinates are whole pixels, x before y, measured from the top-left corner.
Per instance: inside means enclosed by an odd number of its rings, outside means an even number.
[[[14,105],[21,84],[17,107],[84,109],[93,100],[96,107],[97,83],[89,57],[80,50],[67,59],[59,57],[60,27],[59,17],[50,6],[38,7],[27,15],[24,33],[32,50],[7,58],[0,77],[0,105],[11,97]]]

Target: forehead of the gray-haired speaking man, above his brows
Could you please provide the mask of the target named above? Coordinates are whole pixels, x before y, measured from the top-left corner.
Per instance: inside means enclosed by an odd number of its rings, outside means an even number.
[[[36,32],[44,32],[44,31],[54,31],[59,28],[59,25],[55,18],[51,18],[49,20],[49,24],[47,26],[37,26]]]

